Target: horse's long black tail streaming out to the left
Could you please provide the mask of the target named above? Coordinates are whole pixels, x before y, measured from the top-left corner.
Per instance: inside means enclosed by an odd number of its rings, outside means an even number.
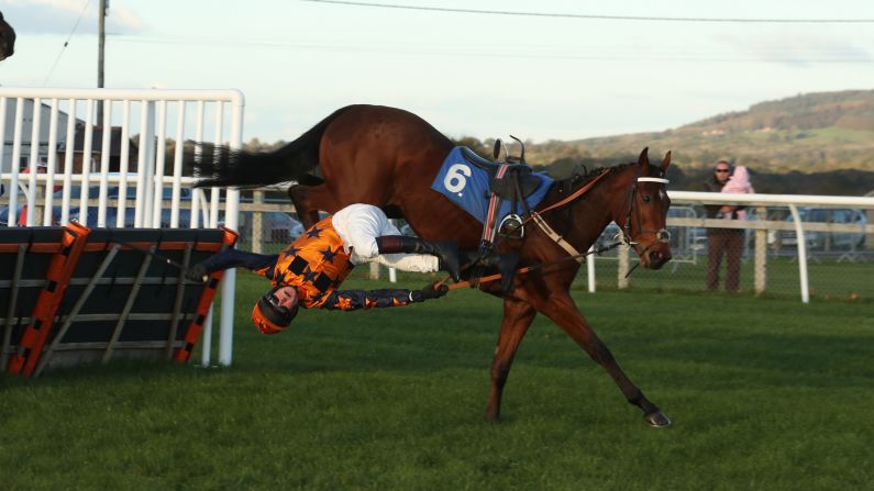
[[[311,180],[319,166],[319,142],[324,129],[349,107],[334,111],[294,142],[273,152],[246,152],[226,145],[200,144],[195,176],[201,187],[257,188],[277,182]]]

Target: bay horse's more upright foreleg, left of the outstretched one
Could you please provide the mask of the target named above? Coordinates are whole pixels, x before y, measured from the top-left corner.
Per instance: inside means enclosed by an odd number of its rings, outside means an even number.
[[[504,394],[504,384],[510,375],[516,350],[522,342],[534,320],[538,311],[531,304],[521,300],[504,300],[504,321],[500,324],[498,346],[495,348],[495,359],[491,362],[491,387],[488,391],[488,406],[486,420],[497,422],[500,420],[500,400]]]

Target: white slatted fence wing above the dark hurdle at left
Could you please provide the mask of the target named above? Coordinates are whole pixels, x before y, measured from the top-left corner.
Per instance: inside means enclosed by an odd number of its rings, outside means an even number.
[[[0,207],[8,207],[2,225],[13,226],[22,215],[27,226],[75,219],[100,227],[225,223],[236,230],[239,191],[192,190],[182,163],[186,141],[240,147],[243,109],[237,90],[0,87]],[[221,365],[231,364],[235,280],[234,270],[225,272]],[[210,326],[211,319],[201,344],[203,365],[212,350]]]

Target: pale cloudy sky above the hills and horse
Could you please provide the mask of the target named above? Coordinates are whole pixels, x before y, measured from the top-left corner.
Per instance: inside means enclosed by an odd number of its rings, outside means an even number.
[[[0,85],[97,87],[98,3],[0,0],[18,33]],[[543,142],[874,89],[871,0],[110,0],[107,33],[106,87],[240,89],[244,141],[352,103]]]

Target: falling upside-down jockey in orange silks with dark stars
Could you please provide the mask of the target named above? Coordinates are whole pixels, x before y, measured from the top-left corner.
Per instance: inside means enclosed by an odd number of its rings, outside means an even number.
[[[405,254],[412,253],[412,254]],[[454,242],[430,243],[406,237],[378,208],[351,204],[320,221],[278,255],[225,249],[188,271],[204,275],[242,266],[264,276],[273,288],[255,304],[252,322],[264,334],[285,331],[298,308],[357,310],[401,306],[443,297],[445,284],[422,290],[338,290],[355,265],[376,261],[405,271],[446,270],[457,281],[458,247]]]

